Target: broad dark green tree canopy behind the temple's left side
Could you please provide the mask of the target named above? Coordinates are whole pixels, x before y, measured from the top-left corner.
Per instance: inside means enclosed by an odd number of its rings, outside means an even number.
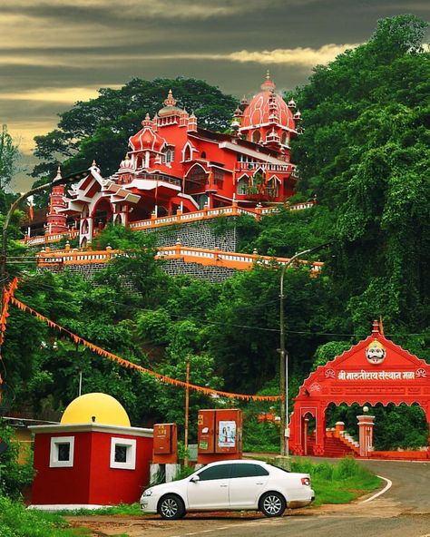
[[[74,104],[60,114],[54,131],[36,136],[34,154],[42,162],[34,168],[34,177],[51,176],[58,161],[66,173],[88,168],[93,159],[104,175],[116,171],[126,141],[139,131],[146,112],[152,116],[161,109],[170,89],[178,106],[197,115],[200,127],[222,131],[230,124],[237,102],[217,87],[192,78],[134,78],[118,90],[102,88],[95,99]]]

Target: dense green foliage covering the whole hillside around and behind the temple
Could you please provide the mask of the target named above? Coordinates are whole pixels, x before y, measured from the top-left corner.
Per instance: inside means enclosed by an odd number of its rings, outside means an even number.
[[[237,224],[243,251],[291,256],[333,242],[318,252],[325,261],[318,278],[310,278],[306,267],[286,273],[290,405],[309,371],[367,336],[374,318],[383,317],[386,335],[397,344],[430,361],[430,67],[429,53],[420,48],[425,27],[409,15],[386,19],[367,44],[315,69],[295,97],[305,133],[293,150],[301,173],[298,196],[316,194],[318,205]],[[121,143],[146,110],[160,107],[160,95],[170,87],[201,121],[205,113],[216,118],[208,127],[223,128],[234,103],[202,84],[134,80],[121,90],[102,90],[97,99],[64,112],[56,132],[37,139],[47,163],[39,171],[59,155],[69,159],[70,170],[86,167],[93,157],[114,170],[125,151]],[[102,149],[105,154],[97,152]],[[214,229],[221,233],[229,225],[220,219]],[[95,246],[107,245],[129,255],[93,284],[10,265],[9,274],[21,275],[17,296],[94,344],[165,375],[184,380],[189,361],[191,383],[279,393],[279,269],[257,265],[211,285],[168,277],[146,235],[108,228]],[[11,248],[17,248],[13,241]],[[76,347],[16,308],[3,351],[7,382],[21,409],[38,415],[64,410],[78,395],[82,374],[83,393],[112,394],[133,425],[183,424],[181,389]],[[199,407],[227,404],[238,405],[191,393],[192,434]],[[248,445],[271,443],[276,429],[256,421],[269,406],[243,406]],[[422,409],[373,410],[378,448],[426,444]],[[357,412],[330,409],[327,426],[342,419],[354,429]]]

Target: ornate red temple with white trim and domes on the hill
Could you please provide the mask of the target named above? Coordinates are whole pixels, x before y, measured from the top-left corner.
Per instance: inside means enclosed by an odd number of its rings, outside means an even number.
[[[161,110],[152,119],[146,115],[112,176],[103,178],[93,162],[69,198],[53,192],[48,232],[67,231],[64,217],[73,216],[83,247],[110,221],[128,225],[233,202],[273,205],[294,193],[289,142],[298,134],[300,112],[276,93],[269,73],[261,91],[234,112],[230,134],[201,129],[196,116],[176,104],[170,91]]]

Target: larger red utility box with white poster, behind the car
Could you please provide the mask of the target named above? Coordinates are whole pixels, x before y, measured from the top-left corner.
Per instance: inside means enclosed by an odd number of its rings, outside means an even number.
[[[200,410],[197,424],[198,464],[242,457],[241,410],[237,408]]]

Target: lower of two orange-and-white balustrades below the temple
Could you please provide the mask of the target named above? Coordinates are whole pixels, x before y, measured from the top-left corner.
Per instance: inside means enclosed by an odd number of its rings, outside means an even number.
[[[122,257],[121,250],[79,250],[64,249],[48,251],[42,250],[36,254],[37,267],[52,267],[54,265],[67,267],[70,265],[83,265],[94,263],[107,263],[111,259]],[[256,265],[278,268],[286,265],[288,258],[273,258],[269,256],[259,256],[257,253],[242,254],[226,252],[219,249],[199,249],[182,246],[180,243],[171,247],[160,248],[157,251],[156,259],[181,259],[185,263],[199,263],[200,265],[211,265],[223,267],[225,269],[250,270]],[[320,261],[298,260],[297,266],[308,266],[311,272],[316,275],[322,269],[324,263]]]

